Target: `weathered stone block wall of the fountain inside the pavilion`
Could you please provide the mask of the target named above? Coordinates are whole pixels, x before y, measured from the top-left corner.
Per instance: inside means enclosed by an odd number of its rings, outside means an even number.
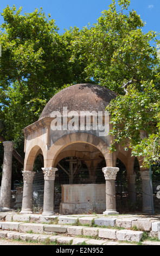
[[[105,184],[62,185],[60,214],[102,214],[106,208]]]

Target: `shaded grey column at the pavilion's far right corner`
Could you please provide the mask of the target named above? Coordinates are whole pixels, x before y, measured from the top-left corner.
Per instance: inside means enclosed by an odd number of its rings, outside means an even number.
[[[142,178],[142,211],[152,212],[152,192],[150,186],[150,172],[149,170],[140,171],[140,176]]]

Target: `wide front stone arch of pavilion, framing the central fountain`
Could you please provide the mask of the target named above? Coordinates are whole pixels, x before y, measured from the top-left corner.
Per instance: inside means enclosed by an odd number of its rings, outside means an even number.
[[[50,147],[47,153],[47,167],[55,167],[57,155],[59,155],[63,148],[73,143],[91,144],[95,148],[99,149],[99,151],[104,155],[106,164],[109,161],[112,162],[113,155],[110,154],[108,145],[102,139],[86,132],[75,132],[61,137]]]

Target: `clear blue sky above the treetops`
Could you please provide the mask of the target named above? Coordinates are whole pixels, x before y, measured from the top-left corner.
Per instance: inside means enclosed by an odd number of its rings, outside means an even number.
[[[31,13],[35,8],[43,8],[46,16],[48,13],[55,20],[56,25],[60,28],[60,33],[69,27],[79,27],[80,29],[97,22],[101,16],[101,11],[107,10],[112,0],[1,0],[0,12],[9,5],[14,4],[16,8],[23,7],[23,12]],[[118,2],[118,0],[117,0]],[[149,30],[159,32],[159,13],[160,0],[131,0],[129,10],[136,10],[141,19],[146,22],[144,32]],[[23,14],[22,12],[22,14]],[[0,17],[0,24],[3,17]]]

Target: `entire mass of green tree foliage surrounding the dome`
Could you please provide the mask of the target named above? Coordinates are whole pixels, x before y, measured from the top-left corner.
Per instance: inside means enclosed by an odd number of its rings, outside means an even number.
[[[0,135],[23,144],[22,129],[39,119],[48,100],[74,83],[110,88],[117,99],[107,107],[114,141],[144,163],[159,162],[159,40],[130,1],[113,0],[93,26],[58,33],[42,9],[21,15],[3,10],[0,44]],[[151,44],[152,42],[152,44]],[[153,44],[155,42],[155,44]],[[21,143],[20,143],[21,141]],[[21,147],[20,147],[21,148]]]

